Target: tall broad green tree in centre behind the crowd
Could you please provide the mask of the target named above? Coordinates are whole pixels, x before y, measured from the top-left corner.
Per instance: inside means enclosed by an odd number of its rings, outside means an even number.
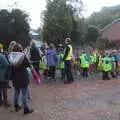
[[[55,44],[64,43],[66,37],[72,37],[76,42],[80,40],[81,19],[75,19],[72,4],[66,4],[68,0],[48,0],[44,11],[43,39]],[[78,35],[80,34],[80,36]]]

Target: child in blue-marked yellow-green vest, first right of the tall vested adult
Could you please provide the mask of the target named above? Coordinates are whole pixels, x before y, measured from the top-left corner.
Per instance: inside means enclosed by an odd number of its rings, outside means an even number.
[[[88,70],[90,67],[90,58],[89,58],[89,55],[84,51],[83,51],[83,54],[80,56],[80,63],[81,63],[83,77],[88,77]]]

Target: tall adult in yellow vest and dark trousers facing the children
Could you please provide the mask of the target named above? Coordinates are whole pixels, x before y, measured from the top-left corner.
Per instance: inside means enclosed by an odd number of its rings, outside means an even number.
[[[65,81],[64,83],[71,83],[73,82],[73,75],[72,75],[72,71],[71,71],[71,61],[72,61],[72,57],[73,57],[73,48],[71,45],[71,39],[70,38],[66,38],[65,39],[65,50],[64,50],[64,56],[63,56],[63,60],[64,60],[64,64],[65,64],[65,75],[67,76],[67,81]]]

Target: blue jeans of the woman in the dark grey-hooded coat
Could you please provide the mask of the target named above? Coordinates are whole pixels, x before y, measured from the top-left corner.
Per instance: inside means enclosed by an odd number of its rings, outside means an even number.
[[[15,88],[14,90],[14,105],[19,104],[20,91],[22,91],[23,106],[24,108],[28,108],[28,88]]]

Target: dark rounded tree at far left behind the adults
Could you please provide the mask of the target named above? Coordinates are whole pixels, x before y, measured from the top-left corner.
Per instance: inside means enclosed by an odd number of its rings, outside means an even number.
[[[28,45],[29,24],[28,15],[19,9],[0,10],[0,42],[7,48],[12,40],[21,43],[24,47]]]

